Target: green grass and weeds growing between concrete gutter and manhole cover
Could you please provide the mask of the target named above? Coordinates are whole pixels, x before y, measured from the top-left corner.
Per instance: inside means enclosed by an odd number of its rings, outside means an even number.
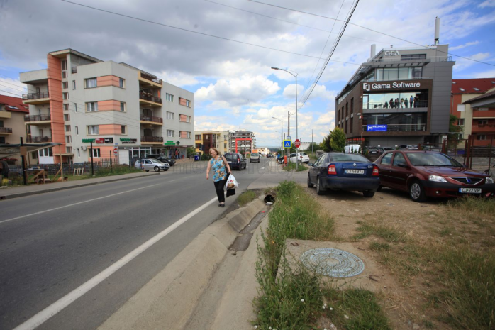
[[[390,329],[372,292],[335,290],[323,285],[321,275],[300,262],[289,264],[285,255],[287,238],[335,239],[334,221],[320,209],[316,199],[295,182],[284,181],[277,187],[277,201],[258,244],[256,278],[260,296],[254,302],[257,320],[253,324],[258,329],[316,329],[320,317],[333,321],[336,314],[342,317],[345,329]],[[335,310],[323,308],[324,301],[331,301]]]

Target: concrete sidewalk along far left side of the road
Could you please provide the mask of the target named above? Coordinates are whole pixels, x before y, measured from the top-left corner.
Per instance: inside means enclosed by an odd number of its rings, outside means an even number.
[[[45,192],[56,192],[57,190],[72,189],[89,185],[99,185],[100,183],[115,182],[121,180],[137,179],[139,177],[148,177],[150,175],[160,175],[155,172],[138,172],[128,173],[123,175],[111,175],[109,177],[91,177],[76,181],[52,182],[41,185],[28,185],[21,187],[10,187],[0,189],[1,199],[12,199],[16,197],[24,197],[32,194],[43,194]]]

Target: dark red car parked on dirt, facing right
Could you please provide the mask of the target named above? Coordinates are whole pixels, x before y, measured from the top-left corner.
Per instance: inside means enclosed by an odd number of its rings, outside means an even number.
[[[423,202],[426,197],[495,193],[494,180],[489,175],[469,170],[457,160],[435,151],[388,151],[374,164],[379,167],[379,189],[404,190],[415,202]]]

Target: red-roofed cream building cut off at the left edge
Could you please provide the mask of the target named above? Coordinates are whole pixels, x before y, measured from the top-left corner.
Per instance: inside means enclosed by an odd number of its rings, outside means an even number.
[[[23,104],[22,99],[0,95],[0,144],[21,143],[21,138],[26,136],[24,115],[28,113],[28,106]],[[16,163],[21,164],[20,155],[10,158],[17,159]]]

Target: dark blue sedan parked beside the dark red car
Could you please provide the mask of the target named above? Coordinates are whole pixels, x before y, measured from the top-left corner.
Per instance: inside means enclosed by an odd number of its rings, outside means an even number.
[[[378,166],[356,153],[324,153],[309,163],[308,187],[317,194],[327,190],[354,190],[373,197],[380,185]]]

